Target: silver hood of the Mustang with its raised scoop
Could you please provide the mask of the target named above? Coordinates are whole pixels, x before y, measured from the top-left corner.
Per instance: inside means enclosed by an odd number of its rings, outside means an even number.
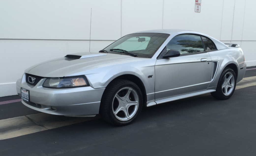
[[[112,66],[115,64],[143,60],[129,55],[110,53],[75,53],[66,57],[52,59],[36,64],[25,70],[25,73],[42,77],[64,77],[76,73],[76,71],[91,71],[94,68]],[[86,73],[84,74],[93,74]]]

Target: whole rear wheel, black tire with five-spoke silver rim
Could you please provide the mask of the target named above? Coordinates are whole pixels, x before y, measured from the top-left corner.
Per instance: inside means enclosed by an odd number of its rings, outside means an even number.
[[[231,68],[225,68],[220,75],[216,92],[211,95],[219,100],[229,99],[236,89],[236,74]]]

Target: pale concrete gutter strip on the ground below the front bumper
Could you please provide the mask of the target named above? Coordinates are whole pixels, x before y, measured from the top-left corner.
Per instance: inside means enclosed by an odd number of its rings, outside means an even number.
[[[99,119],[100,116],[78,118],[37,113],[0,120],[0,140],[14,138],[48,129]]]

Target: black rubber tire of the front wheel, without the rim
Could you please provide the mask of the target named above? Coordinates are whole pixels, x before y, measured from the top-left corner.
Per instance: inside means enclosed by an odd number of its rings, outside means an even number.
[[[134,89],[139,99],[138,109],[135,115],[127,121],[121,121],[117,119],[112,110],[112,103],[115,98],[115,95],[120,89],[124,87],[130,87]],[[101,98],[101,104],[100,104],[100,115],[106,122],[112,125],[125,126],[128,124],[131,124],[138,117],[138,115],[142,110],[142,107],[143,107],[143,95],[140,88],[134,82],[129,80],[114,80],[107,86],[107,88],[103,93],[103,96]]]

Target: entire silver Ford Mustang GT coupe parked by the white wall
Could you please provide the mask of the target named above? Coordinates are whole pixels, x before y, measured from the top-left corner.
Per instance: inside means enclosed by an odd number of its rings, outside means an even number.
[[[246,71],[241,48],[187,30],[126,35],[99,53],[76,53],[25,70],[22,103],[66,116],[132,123],[142,107],[211,93],[229,99]]]

